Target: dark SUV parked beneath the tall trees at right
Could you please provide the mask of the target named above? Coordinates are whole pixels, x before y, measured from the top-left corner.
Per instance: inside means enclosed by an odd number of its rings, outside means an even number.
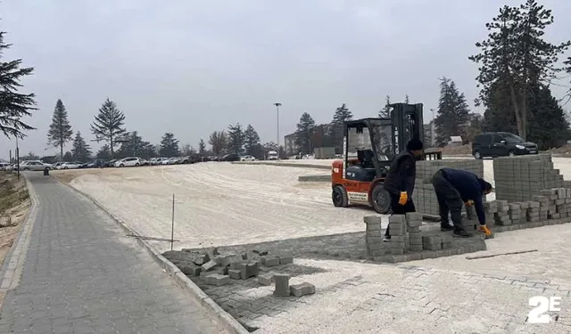
[[[525,142],[521,137],[509,132],[478,134],[472,143],[472,155],[476,159],[537,153],[537,144]]]

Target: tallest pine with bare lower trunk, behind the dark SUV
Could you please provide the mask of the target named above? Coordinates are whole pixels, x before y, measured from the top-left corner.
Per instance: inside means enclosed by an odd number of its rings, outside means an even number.
[[[488,38],[476,43],[481,53],[469,57],[479,64],[476,77],[480,96],[479,104],[487,102],[494,83],[501,83],[508,93],[516,118],[517,133],[525,139],[529,117],[528,96],[533,86],[549,83],[561,69],[555,66],[558,55],[567,50],[570,42],[559,45],[544,39],[544,30],[553,23],[551,11],[526,0],[519,7],[503,6],[498,16],[486,24]]]

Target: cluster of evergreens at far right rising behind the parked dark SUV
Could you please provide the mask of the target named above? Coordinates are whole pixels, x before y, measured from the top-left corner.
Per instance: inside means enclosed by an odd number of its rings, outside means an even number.
[[[481,52],[468,57],[479,66],[476,106],[484,106],[484,119],[470,119],[464,94],[443,78],[434,119],[437,143],[445,143],[451,135],[470,140],[478,131],[519,134],[541,149],[571,139],[567,114],[550,90],[559,74],[571,74],[571,57],[562,65],[559,62],[571,42],[554,44],[545,39],[545,29],[554,21],[552,12],[535,0],[500,9],[485,25],[488,37],[476,43]],[[567,93],[571,96],[571,90]]]

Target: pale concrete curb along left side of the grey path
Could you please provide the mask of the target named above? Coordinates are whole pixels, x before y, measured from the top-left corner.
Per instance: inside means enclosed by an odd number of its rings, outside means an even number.
[[[18,231],[18,235],[12,243],[12,247],[6,254],[2,267],[0,267],[0,292],[4,294],[7,291],[16,288],[20,282],[21,271],[23,264],[26,261],[26,254],[28,253],[29,248],[29,236],[34,228],[34,218],[37,215],[36,191],[32,188],[28,178],[24,175],[22,175],[22,177],[24,177],[26,182],[30,206],[28,213],[22,221],[23,223],[20,225],[20,231]],[[0,310],[2,309],[3,303],[4,300],[0,299]]]

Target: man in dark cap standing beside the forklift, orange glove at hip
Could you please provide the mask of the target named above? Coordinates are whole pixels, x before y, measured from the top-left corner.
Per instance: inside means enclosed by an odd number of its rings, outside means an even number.
[[[391,163],[385,178],[385,191],[391,196],[393,215],[404,215],[415,212],[412,201],[415,178],[417,177],[417,160],[422,157],[423,145],[419,139],[413,138],[407,143],[407,150],[402,151]],[[390,240],[389,228],[386,227],[385,240]]]

